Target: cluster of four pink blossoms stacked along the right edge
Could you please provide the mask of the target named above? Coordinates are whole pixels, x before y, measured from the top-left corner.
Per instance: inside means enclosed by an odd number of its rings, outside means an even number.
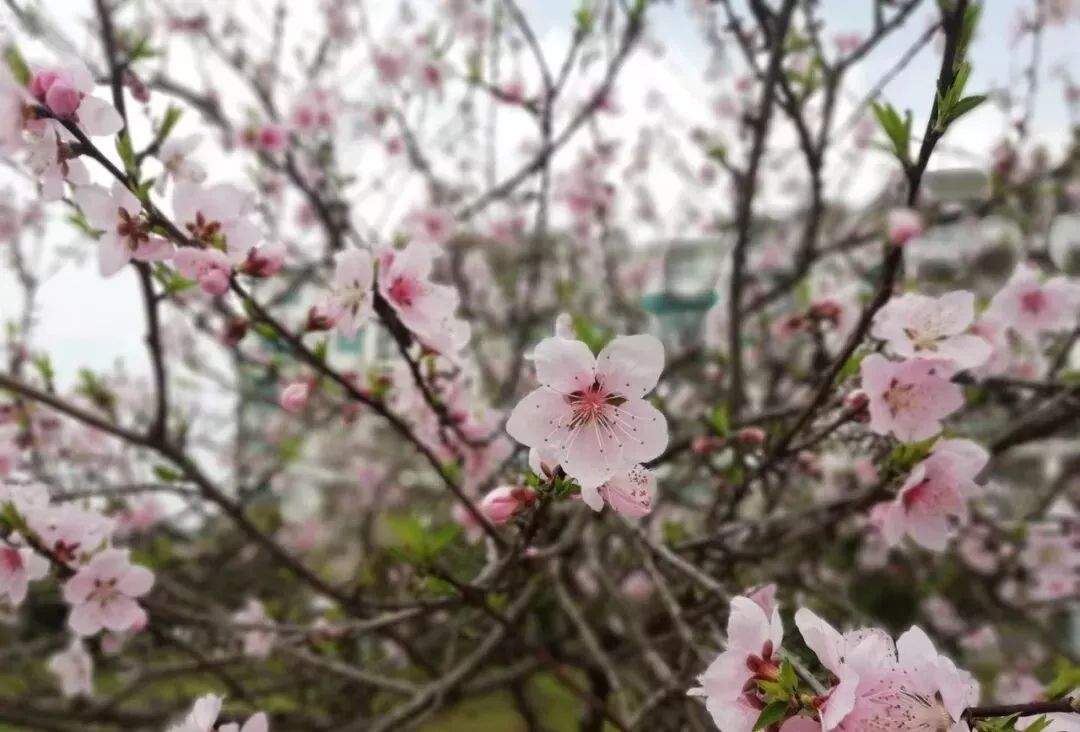
[[[872,353],[862,361],[869,429],[904,443],[932,444],[895,499],[873,511],[888,544],[909,536],[940,552],[955,527],[968,521],[968,503],[978,493],[976,477],[989,455],[970,439],[937,438],[943,420],[964,405],[954,377],[1004,371],[1012,362],[1008,334],[1034,343],[1042,333],[1071,325],[1078,312],[1080,284],[1062,276],[1043,282],[1023,263],[978,318],[975,296],[964,290],[936,298],[908,293],[878,311],[870,335],[899,360]]]

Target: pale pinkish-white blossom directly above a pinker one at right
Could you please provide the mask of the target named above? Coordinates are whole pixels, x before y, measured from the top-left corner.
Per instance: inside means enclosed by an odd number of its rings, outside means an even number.
[[[893,298],[874,317],[870,335],[888,341],[902,358],[939,358],[958,369],[990,357],[989,344],[966,333],[975,318],[975,296],[956,290],[933,298],[908,293]]]

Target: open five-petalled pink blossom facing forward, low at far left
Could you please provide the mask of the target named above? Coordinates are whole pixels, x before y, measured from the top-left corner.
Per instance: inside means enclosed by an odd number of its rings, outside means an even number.
[[[68,625],[81,636],[144,625],[146,611],[136,598],[152,586],[153,572],[133,566],[126,551],[105,550],[64,585],[64,599],[71,606]]]

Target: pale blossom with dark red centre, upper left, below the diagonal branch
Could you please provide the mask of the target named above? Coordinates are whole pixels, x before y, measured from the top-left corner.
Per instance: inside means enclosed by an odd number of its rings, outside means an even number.
[[[173,245],[150,233],[140,216],[143,204],[119,180],[111,190],[96,185],[80,186],[76,203],[94,229],[102,231],[97,241],[97,263],[103,276],[119,272],[132,259],[161,261],[173,256]]]

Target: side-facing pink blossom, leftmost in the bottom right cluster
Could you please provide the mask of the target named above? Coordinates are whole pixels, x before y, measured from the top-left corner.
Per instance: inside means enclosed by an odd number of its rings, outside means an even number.
[[[774,680],[779,674],[784,626],[780,609],[771,612],[750,599],[734,597],[728,615],[727,648],[698,677],[690,696],[704,696],[705,708],[724,732],[751,732],[761,710],[754,679]]]

